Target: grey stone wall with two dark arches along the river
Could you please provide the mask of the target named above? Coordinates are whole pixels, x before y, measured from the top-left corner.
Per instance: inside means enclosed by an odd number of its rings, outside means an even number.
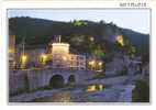
[[[25,69],[11,70],[9,77],[9,91],[33,90],[40,87],[52,86],[62,87],[66,84],[85,84],[87,79],[93,77],[93,72],[89,70],[64,70],[64,69]]]

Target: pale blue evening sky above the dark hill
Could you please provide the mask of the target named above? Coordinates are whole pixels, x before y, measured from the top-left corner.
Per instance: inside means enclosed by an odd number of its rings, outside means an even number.
[[[8,16],[32,16],[54,21],[103,20],[141,33],[151,32],[151,12],[147,9],[12,9]]]

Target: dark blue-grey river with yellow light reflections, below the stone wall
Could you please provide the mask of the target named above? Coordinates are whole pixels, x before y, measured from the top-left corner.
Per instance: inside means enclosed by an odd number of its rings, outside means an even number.
[[[43,90],[10,98],[11,102],[131,102],[134,85]]]

